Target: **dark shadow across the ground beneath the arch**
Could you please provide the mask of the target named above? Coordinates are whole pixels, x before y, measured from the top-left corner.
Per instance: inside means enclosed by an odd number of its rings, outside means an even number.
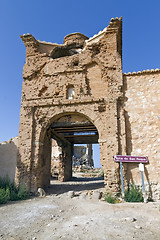
[[[63,194],[69,191],[89,191],[104,188],[103,177],[83,178],[73,177],[67,182],[58,182],[51,180],[50,187],[46,189],[47,194]]]

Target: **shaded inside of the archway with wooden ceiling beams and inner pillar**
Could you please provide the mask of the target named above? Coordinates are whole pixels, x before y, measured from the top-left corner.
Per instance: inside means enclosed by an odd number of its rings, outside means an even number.
[[[51,139],[61,147],[59,156],[62,169],[59,180],[67,181],[72,177],[72,155],[74,144],[98,143],[99,134],[88,117],[77,112],[65,112],[51,118],[40,132],[37,185],[46,187],[50,183]],[[37,169],[37,170],[38,170]],[[40,170],[41,169],[41,170]],[[35,171],[36,174],[37,170]]]

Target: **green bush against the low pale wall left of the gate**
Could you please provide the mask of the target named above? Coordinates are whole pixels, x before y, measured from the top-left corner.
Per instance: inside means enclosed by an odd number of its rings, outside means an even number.
[[[8,177],[0,178],[0,204],[27,198],[29,198],[29,191],[26,185],[16,187]]]

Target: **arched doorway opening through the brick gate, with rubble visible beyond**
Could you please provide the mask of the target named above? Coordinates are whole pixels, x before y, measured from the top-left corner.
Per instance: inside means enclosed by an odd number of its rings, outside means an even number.
[[[50,183],[52,184],[55,172],[57,173],[57,179],[60,182],[65,182],[73,180],[73,177],[75,178],[76,168],[79,168],[82,173],[85,170],[88,172],[93,170],[92,145],[99,145],[98,139],[99,134],[96,126],[83,114],[63,113],[51,120],[44,137],[41,154],[41,161],[44,162],[45,166],[40,180],[41,186],[48,187]],[[78,148],[78,146],[81,147]],[[76,164],[75,152],[79,150],[86,152],[80,157],[79,163]],[[94,155],[97,158],[98,151]]]

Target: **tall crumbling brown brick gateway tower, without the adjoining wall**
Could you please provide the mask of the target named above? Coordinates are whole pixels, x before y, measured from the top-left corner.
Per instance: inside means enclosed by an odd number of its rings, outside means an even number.
[[[69,162],[71,145],[78,141],[74,132],[91,129],[90,139],[99,142],[106,189],[118,193],[119,166],[113,155],[125,151],[121,18],[112,19],[92,38],[73,33],[60,45],[41,42],[31,34],[21,38],[26,63],[16,181],[26,183],[31,192],[48,186],[51,137],[62,146],[62,161]],[[68,86],[74,88],[74,98],[66,98]],[[70,177],[66,172],[63,180]]]

